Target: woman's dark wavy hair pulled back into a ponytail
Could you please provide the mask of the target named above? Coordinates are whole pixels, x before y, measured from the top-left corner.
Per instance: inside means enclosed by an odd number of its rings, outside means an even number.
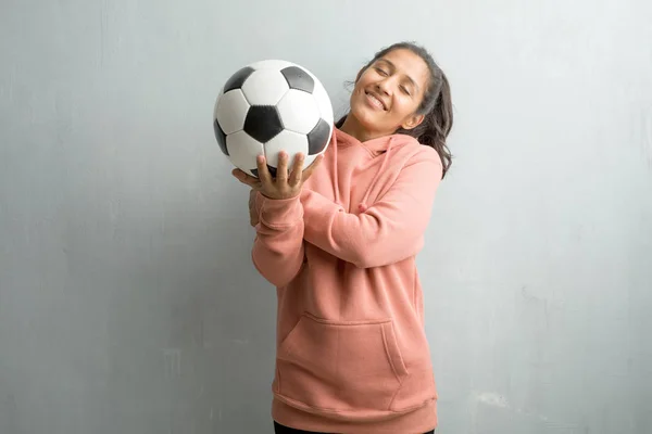
[[[453,103],[451,100],[451,87],[448,78],[437,65],[432,55],[423,47],[414,42],[398,42],[378,51],[360,72],[358,79],[371,65],[378,59],[385,56],[393,50],[410,50],[426,62],[430,72],[430,79],[424,94],[424,99],[418,106],[416,114],[425,115],[424,120],[413,129],[399,128],[396,132],[412,136],[416,140],[426,145],[431,146],[437,151],[443,166],[442,178],[452,164],[452,154],[447,146],[446,139],[453,127]],[[348,114],[342,116],[336,127],[340,128]]]

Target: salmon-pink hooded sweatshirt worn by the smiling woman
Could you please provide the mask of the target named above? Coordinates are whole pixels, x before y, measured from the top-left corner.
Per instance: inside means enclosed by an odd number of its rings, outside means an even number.
[[[435,379],[415,256],[441,179],[404,135],[335,129],[299,197],[256,195],[252,258],[277,286],[273,417],[330,433],[424,433]]]

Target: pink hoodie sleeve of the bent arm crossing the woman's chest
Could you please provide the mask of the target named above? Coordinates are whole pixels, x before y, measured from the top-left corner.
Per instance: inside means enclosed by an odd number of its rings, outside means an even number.
[[[301,196],[303,238],[360,268],[414,256],[423,247],[441,171],[436,152],[419,152],[402,168],[389,191],[358,215],[305,190]]]

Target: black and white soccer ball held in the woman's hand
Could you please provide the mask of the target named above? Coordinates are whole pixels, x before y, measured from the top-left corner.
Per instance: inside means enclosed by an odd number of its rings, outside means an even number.
[[[326,89],[306,68],[265,60],[236,72],[215,101],[213,127],[217,144],[242,171],[259,177],[256,156],[264,154],[272,176],[278,153],[299,152],[303,168],[324,153],[333,135],[333,105]]]

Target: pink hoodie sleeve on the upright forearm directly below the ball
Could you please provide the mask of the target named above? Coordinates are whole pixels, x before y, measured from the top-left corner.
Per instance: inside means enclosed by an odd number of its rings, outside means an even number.
[[[273,200],[256,194],[259,224],[251,257],[259,272],[277,288],[287,285],[303,264],[303,207],[300,196]]]

